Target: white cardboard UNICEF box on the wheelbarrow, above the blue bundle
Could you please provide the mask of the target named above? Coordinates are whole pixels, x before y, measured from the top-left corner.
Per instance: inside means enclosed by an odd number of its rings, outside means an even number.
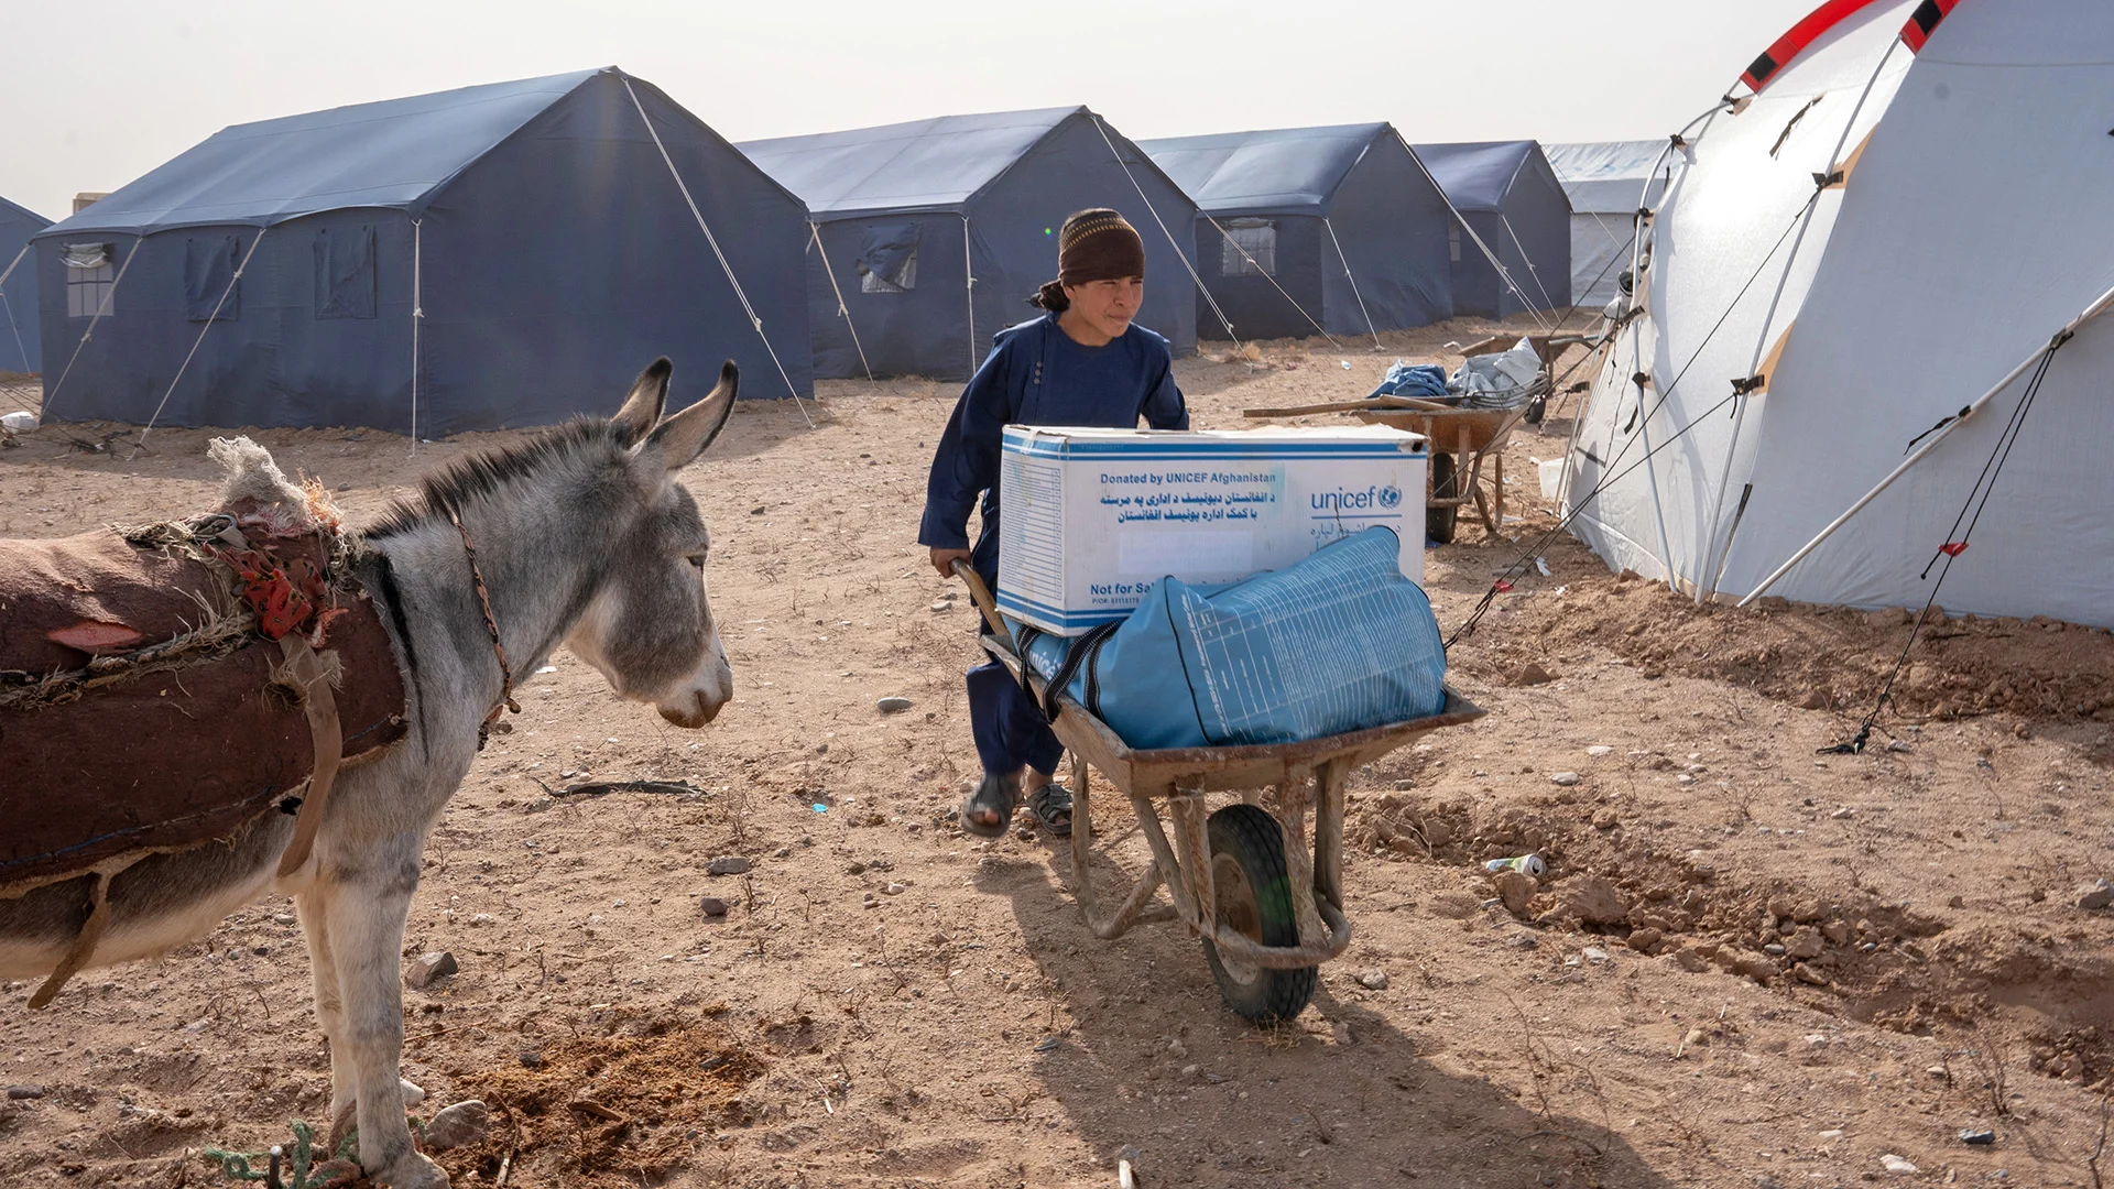
[[[1387,525],[1425,580],[1425,438],[1330,429],[1006,425],[998,609],[1057,635],[1120,620],[1161,578],[1237,582]]]

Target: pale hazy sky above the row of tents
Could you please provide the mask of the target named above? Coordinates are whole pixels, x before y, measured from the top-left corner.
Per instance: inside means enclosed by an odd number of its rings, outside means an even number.
[[[594,66],[729,140],[1059,104],[1131,138],[1655,138],[1816,2],[6,0],[0,195],[61,218],[233,123]]]

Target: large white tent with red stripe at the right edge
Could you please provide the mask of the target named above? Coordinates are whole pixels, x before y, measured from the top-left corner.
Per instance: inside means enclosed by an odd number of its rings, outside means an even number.
[[[1698,599],[2114,624],[2108,95],[2103,0],[1835,0],[1772,44],[1668,142],[1573,531]]]

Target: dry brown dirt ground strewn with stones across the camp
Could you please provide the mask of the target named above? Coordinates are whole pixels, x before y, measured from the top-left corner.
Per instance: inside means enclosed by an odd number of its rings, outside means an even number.
[[[1180,377],[1197,423],[1228,427],[1361,396],[1397,353],[1457,362],[1442,345],[1480,330]],[[679,364],[702,391],[706,362]],[[1452,652],[1490,715],[1357,776],[1355,941],[1304,1016],[1258,1032],[1177,927],[1093,939],[1068,850],[949,825],[977,652],[913,535],[951,402],[824,383],[814,429],[744,404],[685,474],[738,700],[676,730],[560,654],[471,770],[406,946],[461,961],[406,992],[408,1077],[501,1109],[442,1157],[457,1185],[509,1161],[522,1187],[1114,1187],[1125,1149],[1148,1187],[2099,1185],[2114,920],[2076,899],[2114,827],[2108,633],[1947,624],[1892,734],[1816,755],[1875,696],[1896,616],[1695,609],[1558,537]],[[1514,438],[1503,537],[1463,523],[1429,554],[1446,628],[1554,523],[1528,459],[1569,427],[1564,408]],[[116,429],[0,451],[0,533],[207,506],[207,432],[91,449]],[[357,523],[514,436],[416,457],[376,432],[258,438]],[[702,793],[552,795],[638,776]],[[1097,821],[1101,878],[1139,870],[1127,815]],[[1550,880],[1516,916],[1480,861],[1526,848]],[[755,867],[708,876],[721,855]],[[49,1011],[30,990],[6,988],[0,1083],[42,1096],[0,1102],[4,1185],[218,1185],[199,1149],[321,1121],[285,901],[76,977]]]

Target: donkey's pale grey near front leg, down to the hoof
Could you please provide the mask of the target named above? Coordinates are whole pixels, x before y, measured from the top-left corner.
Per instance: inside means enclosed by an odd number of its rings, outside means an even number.
[[[332,1037],[332,1071],[351,1075],[359,1121],[359,1164],[368,1176],[395,1189],[442,1189],[448,1174],[412,1151],[404,1123],[404,980],[397,956],[404,950],[404,918],[419,891],[423,831],[406,831],[357,859],[338,865],[323,880],[336,886],[323,908],[326,935],[342,1016]]]

